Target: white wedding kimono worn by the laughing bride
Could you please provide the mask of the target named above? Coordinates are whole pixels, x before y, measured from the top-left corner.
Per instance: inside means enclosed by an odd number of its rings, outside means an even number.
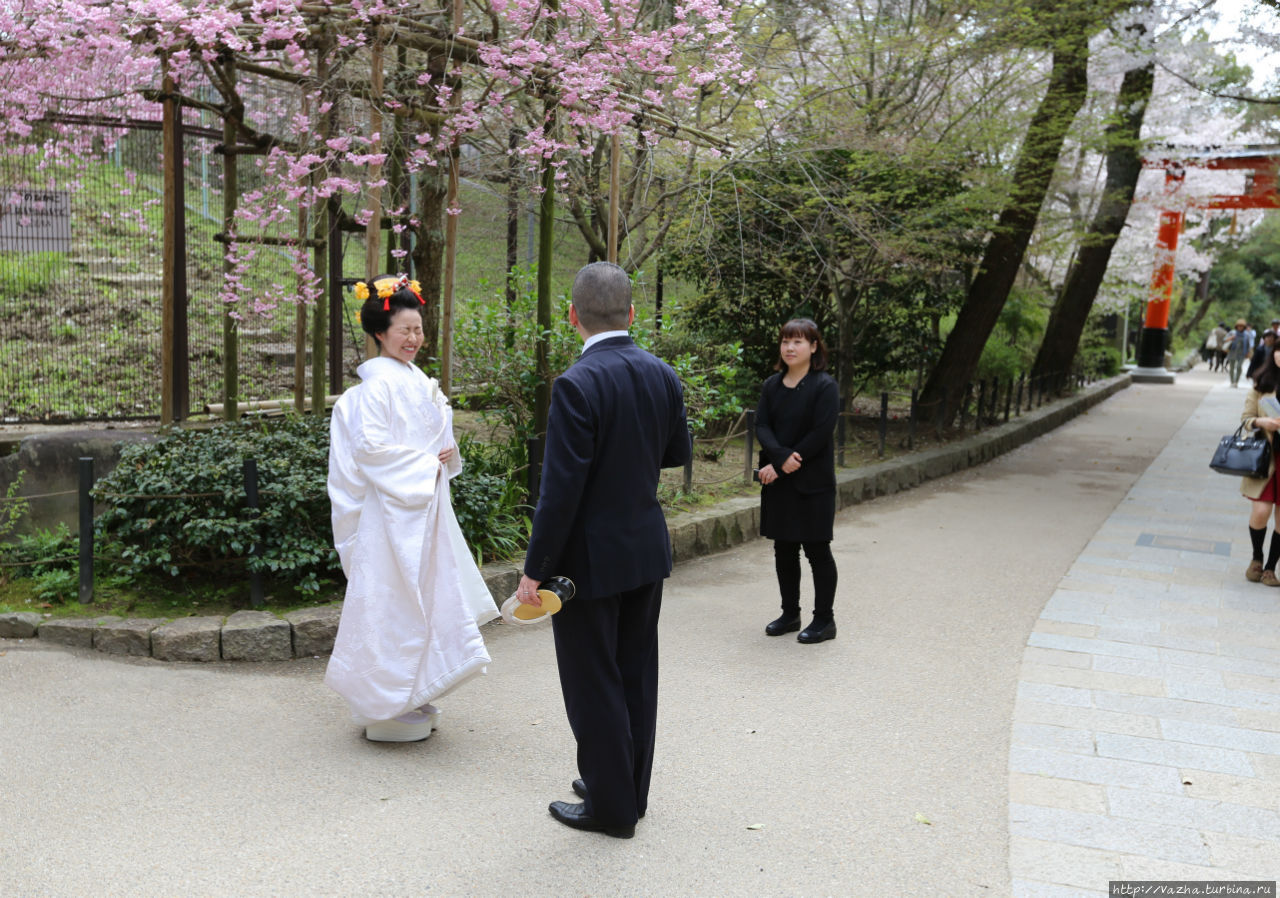
[[[367,725],[485,672],[498,617],[449,503],[453,411],[416,366],[371,358],[333,409],[329,499],[347,597],[325,683]]]

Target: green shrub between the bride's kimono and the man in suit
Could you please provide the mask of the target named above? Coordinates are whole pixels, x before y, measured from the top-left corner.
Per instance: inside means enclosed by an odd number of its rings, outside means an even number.
[[[458,435],[462,473],[449,481],[453,513],[476,562],[518,555],[529,540],[531,513],[525,500],[525,449],[517,439],[506,445]]]

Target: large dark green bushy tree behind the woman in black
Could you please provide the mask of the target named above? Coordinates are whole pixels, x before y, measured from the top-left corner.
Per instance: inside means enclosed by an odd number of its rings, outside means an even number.
[[[842,348],[855,379],[913,370],[928,322],[963,298],[980,203],[960,161],[788,148],[716,187],[700,221],[673,229],[687,237],[666,261],[700,289],[684,326],[704,343],[741,340],[756,379],[796,316]]]

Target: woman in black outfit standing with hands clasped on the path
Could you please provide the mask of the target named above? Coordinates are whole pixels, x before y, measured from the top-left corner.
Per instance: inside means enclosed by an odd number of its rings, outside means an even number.
[[[792,319],[778,333],[778,374],[764,381],[755,409],[760,440],[760,535],[773,540],[782,617],[764,632],[800,629],[800,549],[813,571],[813,623],[796,638],[836,638],[836,454],[832,432],[840,390],[827,374],[827,347],[818,325]]]

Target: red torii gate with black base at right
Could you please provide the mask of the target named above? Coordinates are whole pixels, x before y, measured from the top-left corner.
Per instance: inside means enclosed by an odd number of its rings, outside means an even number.
[[[1207,201],[1192,203],[1208,210],[1280,209],[1277,171],[1280,147],[1242,147],[1239,150],[1199,150],[1172,157],[1157,156],[1142,161],[1143,168],[1165,170],[1166,209],[1160,211],[1156,232],[1156,265],[1151,275],[1147,317],[1138,343],[1138,367],[1133,379],[1162,384],[1174,382],[1174,372],[1165,368],[1165,348],[1169,345],[1169,307],[1174,298],[1174,258],[1178,255],[1178,234],[1183,230],[1185,207],[1169,209],[1183,187],[1188,168],[1216,171],[1245,171],[1244,193],[1212,196]]]

